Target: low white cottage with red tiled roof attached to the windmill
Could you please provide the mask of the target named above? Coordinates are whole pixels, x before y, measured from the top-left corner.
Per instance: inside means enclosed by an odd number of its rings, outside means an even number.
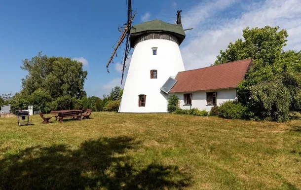
[[[246,59],[179,72],[168,94],[176,94],[180,98],[179,107],[182,109],[210,111],[213,106],[237,97],[238,84],[251,63],[251,59]]]

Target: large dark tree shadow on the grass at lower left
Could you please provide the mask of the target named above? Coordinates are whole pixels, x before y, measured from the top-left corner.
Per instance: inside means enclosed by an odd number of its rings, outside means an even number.
[[[31,190],[165,190],[183,189],[191,177],[177,166],[135,164],[126,156],[139,143],[128,137],[33,147],[0,160],[0,189]]]

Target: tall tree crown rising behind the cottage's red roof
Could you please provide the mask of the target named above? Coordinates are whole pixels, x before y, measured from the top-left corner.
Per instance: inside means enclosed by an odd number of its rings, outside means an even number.
[[[226,51],[221,50],[214,65],[242,59],[261,59],[263,66],[272,65],[280,57],[286,45],[286,30],[278,32],[279,27],[253,28],[243,30],[243,39],[230,43]]]

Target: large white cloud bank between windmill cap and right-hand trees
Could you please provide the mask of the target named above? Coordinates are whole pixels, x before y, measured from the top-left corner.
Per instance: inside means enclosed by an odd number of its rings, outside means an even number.
[[[241,1],[241,3],[239,5],[235,0],[215,0],[200,3],[187,13],[183,12],[184,27],[194,28],[187,31],[187,39],[181,47],[186,70],[214,63],[220,50],[225,50],[229,42],[242,38],[242,30],[248,26],[254,28],[269,25],[279,26],[280,30],[286,29],[289,38],[285,48],[301,50],[300,0],[265,0],[249,4]],[[239,14],[231,18],[219,15],[234,5],[241,6]]]

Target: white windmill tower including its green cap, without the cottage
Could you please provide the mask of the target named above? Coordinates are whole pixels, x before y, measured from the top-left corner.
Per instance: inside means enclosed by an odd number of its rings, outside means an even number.
[[[171,76],[185,71],[179,48],[186,36],[181,23],[181,11],[178,11],[175,24],[153,20],[130,28],[127,31],[127,44],[130,41],[130,48],[134,48],[134,51],[119,112],[166,113],[168,94],[160,88]],[[126,50],[125,58],[127,55]]]

